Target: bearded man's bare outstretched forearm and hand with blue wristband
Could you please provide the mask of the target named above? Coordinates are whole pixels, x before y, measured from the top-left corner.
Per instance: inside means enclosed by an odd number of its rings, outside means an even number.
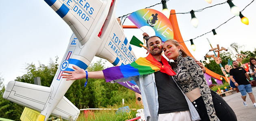
[[[84,69],[75,66],[72,67],[75,69],[75,71],[63,71],[63,74],[61,76],[63,78],[67,78],[67,81],[86,78],[86,72]],[[103,71],[88,72],[88,78],[105,79]]]

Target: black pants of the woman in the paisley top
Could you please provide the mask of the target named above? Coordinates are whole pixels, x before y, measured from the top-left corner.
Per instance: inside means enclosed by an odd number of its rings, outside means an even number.
[[[219,120],[220,121],[237,121],[236,114],[234,113],[232,108],[228,105],[228,103],[213,90],[210,90],[210,92],[213,97],[213,105],[215,108],[215,112]],[[199,113],[200,118],[202,119],[201,121],[210,121],[202,96],[200,96],[195,101],[193,101],[192,104],[195,106],[195,109]]]

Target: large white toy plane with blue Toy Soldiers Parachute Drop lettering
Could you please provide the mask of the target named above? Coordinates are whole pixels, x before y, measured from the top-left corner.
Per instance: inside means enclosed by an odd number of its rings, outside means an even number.
[[[50,115],[75,121],[80,111],[64,96],[75,80],[63,79],[63,71],[74,71],[73,65],[87,69],[94,56],[117,66],[132,63],[137,58],[115,17],[117,0],[44,1],[74,32],[62,63],[50,87],[10,81],[3,98],[41,112],[37,121],[47,121]],[[120,84],[140,93],[137,85]]]

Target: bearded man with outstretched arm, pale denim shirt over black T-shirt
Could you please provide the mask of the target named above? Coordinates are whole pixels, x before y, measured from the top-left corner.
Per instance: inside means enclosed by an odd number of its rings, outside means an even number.
[[[115,68],[118,67],[111,67],[103,71],[88,73],[83,69],[73,67],[76,71],[64,71],[64,73],[70,74],[63,74],[62,76],[63,78],[67,78],[67,80],[74,80],[85,78],[87,73],[89,78],[103,78],[106,79],[107,82],[111,80],[114,80],[114,82],[134,80],[141,90],[145,121],[200,120],[200,116],[195,110],[193,104],[189,101],[187,96],[184,95],[182,90],[178,88],[173,77],[170,76],[175,74],[175,72],[172,72],[167,60],[161,55],[163,51],[161,38],[153,36],[148,39],[147,48],[150,54],[146,58],[152,57],[155,63],[161,65],[162,69],[160,71],[143,75],[116,78],[118,77],[118,74],[114,72],[115,75],[113,75],[112,70],[115,70]],[[197,63],[199,62],[197,61]],[[200,67],[204,69],[202,64]]]

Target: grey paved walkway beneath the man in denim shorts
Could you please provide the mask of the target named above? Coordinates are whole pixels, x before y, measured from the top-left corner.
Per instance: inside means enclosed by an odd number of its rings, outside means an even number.
[[[256,87],[252,88],[254,98],[256,98]],[[243,100],[241,98],[240,92],[232,92],[233,94],[223,97],[224,100],[230,105],[230,107],[236,113],[237,121],[256,121],[256,108],[253,107],[252,101],[249,95],[246,96],[246,102],[248,107],[243,105]],[[227,119],[227,121],[229,121]]]

